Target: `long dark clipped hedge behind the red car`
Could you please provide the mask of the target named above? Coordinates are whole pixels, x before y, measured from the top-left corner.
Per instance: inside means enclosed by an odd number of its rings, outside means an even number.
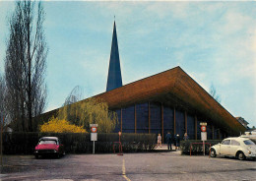
[[[93,142],[89,133],[4,133],[3,152],[5,154],[32,154],[34,147],[41,137],[58,137],[67,153],[91,153]],[[121,135],[124,152],[151,151],[156,147],[155,134],[129,134]],[[113,152],[113,142],[118,142],[117,133],[97,134],[96,153]],[[115,144],[115,151],[118,145]]]

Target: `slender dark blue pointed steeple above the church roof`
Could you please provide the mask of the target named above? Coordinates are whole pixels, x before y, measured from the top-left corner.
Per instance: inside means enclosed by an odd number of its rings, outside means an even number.
[[[111,91],[122,86],[123,84],[122,84],[122,75],[121,75],[121,67],[120,67],[120,60],[119,60],[119,51],[118,51],[117,35],[116,35],[116,28],[115,28],[115,22],[114,22],[106,91]]]

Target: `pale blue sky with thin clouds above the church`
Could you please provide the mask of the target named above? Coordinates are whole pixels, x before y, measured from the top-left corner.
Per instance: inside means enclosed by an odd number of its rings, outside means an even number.
[[[213,85],[234,117],[256,126],[256,2],[43,1],[49,111],[76,86],[105,91],[113,22],[123,85],[180,66],[206,91]],[[7,18],[0,1],[0,74]],[[115,18],[114,18],[115,17]]]

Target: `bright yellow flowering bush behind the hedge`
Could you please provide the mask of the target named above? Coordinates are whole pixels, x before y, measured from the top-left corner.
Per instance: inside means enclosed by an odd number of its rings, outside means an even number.
[[[48,133],[87,133],[83,126],[70,124],[67,120],[52,117],[49,122],[40,126],[40,132]]]

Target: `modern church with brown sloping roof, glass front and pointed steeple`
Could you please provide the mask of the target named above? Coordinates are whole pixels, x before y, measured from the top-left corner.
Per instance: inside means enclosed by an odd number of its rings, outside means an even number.
[[[106,91],[94,97],[106,101],[109,109],[117,113],[119,124],[115,132],[164,136],[170,131],[200,140],[200,122],[207,123],[208,140],[238,136],[245,131],[223,105],[180,67],[123,86],[115,23]]]

